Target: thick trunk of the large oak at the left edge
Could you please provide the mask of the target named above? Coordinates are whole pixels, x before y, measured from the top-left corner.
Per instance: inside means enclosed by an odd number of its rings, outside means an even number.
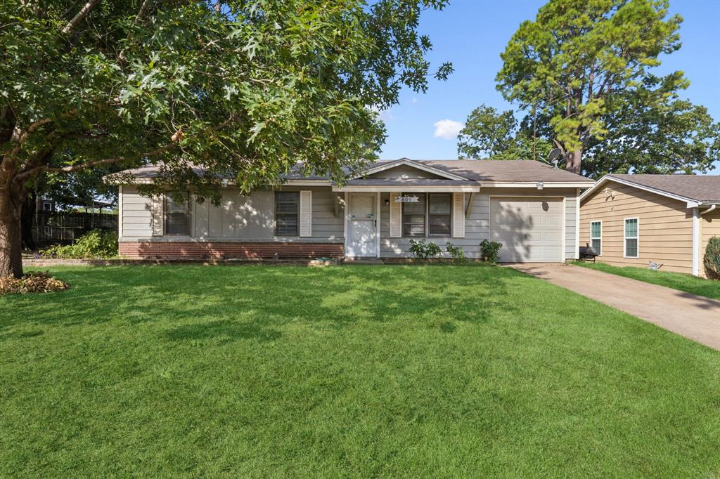
[[[14,199],[12,189],[0,189],[0,276],[20,278],[22,276],[20,227],[22,196]]]

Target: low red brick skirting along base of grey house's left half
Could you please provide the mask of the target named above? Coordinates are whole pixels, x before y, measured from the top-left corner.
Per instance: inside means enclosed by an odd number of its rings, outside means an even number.
[[[138,259],[278,259],[343,257],[342,243],[120,242],[122,257]],[[275,256],[277,255],[277,256]]]

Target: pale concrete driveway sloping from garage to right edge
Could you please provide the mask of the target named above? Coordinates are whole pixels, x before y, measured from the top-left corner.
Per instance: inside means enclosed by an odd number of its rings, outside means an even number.
[[[720,301],[716,299],[575,265],[507,266],[720,350]]]

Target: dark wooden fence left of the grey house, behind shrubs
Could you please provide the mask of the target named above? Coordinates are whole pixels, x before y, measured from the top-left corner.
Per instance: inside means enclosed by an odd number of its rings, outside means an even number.
[[[40,245],[72,243],[91,229],[117,232],[117,214],[38,211],[32,239]]]

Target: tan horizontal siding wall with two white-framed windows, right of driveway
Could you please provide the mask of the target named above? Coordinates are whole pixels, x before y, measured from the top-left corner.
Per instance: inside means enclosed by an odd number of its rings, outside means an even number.
[[[638,258],[623,257],[624,219],[639,218]],[[693,272],[693,210],[683,201],[608,183],[580,206],[580,245],[590,242],[590,222],[603,222],[603,255],[598,261],[618,266]]]

